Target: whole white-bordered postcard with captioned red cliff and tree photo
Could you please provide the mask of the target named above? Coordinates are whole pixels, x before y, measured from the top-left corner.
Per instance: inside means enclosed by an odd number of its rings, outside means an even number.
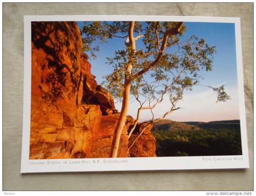
[[[248,167],[239,18],[24,16],[21,173]]]

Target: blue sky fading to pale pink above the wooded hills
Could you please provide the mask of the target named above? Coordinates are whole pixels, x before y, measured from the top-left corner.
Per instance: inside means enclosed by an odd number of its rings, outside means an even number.
[[[79,22],[82,27],[83,22]],[[213,71],[202,71],[201,84],[220,86],[225,85],[227,93],[232,100],[216,103],[216,95],[211,89],[195,86],[193,91],[187,91],[183,100],[177,104],[182,107],[168,116],[174,121],[216,121],[239,119],[238,110],[238,87],[236,74],[236,52],[235,52],[235,26],[233,23],[185,23],[187,31],[180,39],[187,40],[191,35],[204,38],[210,46],[216,46],[216,54],[213,58]],[[143,47],[141,41],[137,41],[137,48]],[[110,74],[112,68],[106,64],[106,57],[113,57],[116,49],[124,49],[124,39],[113,38],[108,43],[100,45],[100,51],[96,53],[97,58],[90,58],[92,65],[91,72],[96,75],[98,83],[102,82],[105,74]],[[173,48],[172,50],[175,50]],[[167,51],[168,52],[168,51]],[[166,99],[159,107],[155,108],[156,117],[168,108],[169,102]],[[134,99],[130,100],[129,114],[133,117],[137,114],[138,104]],[[116,108],[121,109],[121,103],[116,103]],[[141,121],[151,118],[150,111],[141,115]]]

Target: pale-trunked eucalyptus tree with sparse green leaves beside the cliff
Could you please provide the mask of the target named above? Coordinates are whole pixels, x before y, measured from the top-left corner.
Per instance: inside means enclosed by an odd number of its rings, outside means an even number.
[[[154,119],[153,110],[168,94],[171,105],[160,119],[165,118],[172,111],[179,109],[176,108],[176,103],[182,99],[185,90],[191,90],[194,85],[199,85],[200,71],[212,71],[215,46],[209,46],[203,38],[199,39],[195,35],[182,40],[185,31],[183,22],[84,23],[84,51],[90,52],[91,56],[96,57],[100,44],[107,42],[108,39],[119,38],[125,46],[123,49],[116,49],[113,57],[107,57],[113,72],[105,75],[103,82],[110,93],[122,102],[112,143],[113,158],[118,155],[131,94],[140,103],[140,108],[129,137],[140,120],[141,110],[150,110],[151,122],[158,121],[159,119]],[[224,86],[208,87],[218,93],[218,101],[230,99],[224,91]],[[145,103],[148,107],[144,107]]]

